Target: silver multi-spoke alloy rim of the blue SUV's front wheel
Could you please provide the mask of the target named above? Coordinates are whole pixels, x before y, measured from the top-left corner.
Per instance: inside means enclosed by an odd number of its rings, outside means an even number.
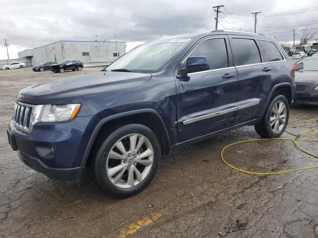
[[[119,139],[111,148],[106,160],[106,174],[119,188],[140,184],[151,172],[154,149],[145,136],[129,134]]]

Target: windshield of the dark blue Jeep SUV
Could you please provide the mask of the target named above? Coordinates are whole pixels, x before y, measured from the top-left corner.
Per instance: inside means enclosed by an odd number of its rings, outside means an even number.
[[[123,55],[103,70],[156,73],[166,67],[191,38],[154,41]]]

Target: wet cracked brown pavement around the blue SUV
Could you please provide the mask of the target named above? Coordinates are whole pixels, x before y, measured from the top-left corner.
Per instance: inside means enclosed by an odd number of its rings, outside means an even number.
[[[141,193],[123,200],[104,195],[89,179],[79,185],[48,179],[19,161],[5,129],[18,91],[82,72],[0,71],[0,237],[100,238],[317,238],[318,169],[271,176],[226,166],[222,148],[259,138],[246,126],[192,144],[161,159],[158,174]],[[290,122],[318,118],[318,107],[293,107]],[[297,124],[301,132],[318,122]],[[284,137],[290,137],[284,133]],[[317,134],[311,135],[317,138]],[[317,142],[299,142],[318,154]],[[229,163],[258,172],[318,165],[293,141],[242,143],[225,152]],[[246,220],[244,220],[246,219]],[[247,223],[243,230],[237,228]]]

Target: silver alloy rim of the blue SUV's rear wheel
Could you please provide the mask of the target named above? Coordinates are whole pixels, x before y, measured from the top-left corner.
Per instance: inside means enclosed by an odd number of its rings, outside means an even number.
[[[282,101],[274,104],[270,115],[270,126],[275,133],[279,133],[286,123],[287,109]]]

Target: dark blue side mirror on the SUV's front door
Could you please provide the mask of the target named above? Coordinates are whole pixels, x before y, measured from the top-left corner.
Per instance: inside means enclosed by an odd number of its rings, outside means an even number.
[[[186,67],[181,68],[181,73],[186,75],[187,73],[200,72],[210,69],[210,63],[205,56],[191,56],[186,61]]]

